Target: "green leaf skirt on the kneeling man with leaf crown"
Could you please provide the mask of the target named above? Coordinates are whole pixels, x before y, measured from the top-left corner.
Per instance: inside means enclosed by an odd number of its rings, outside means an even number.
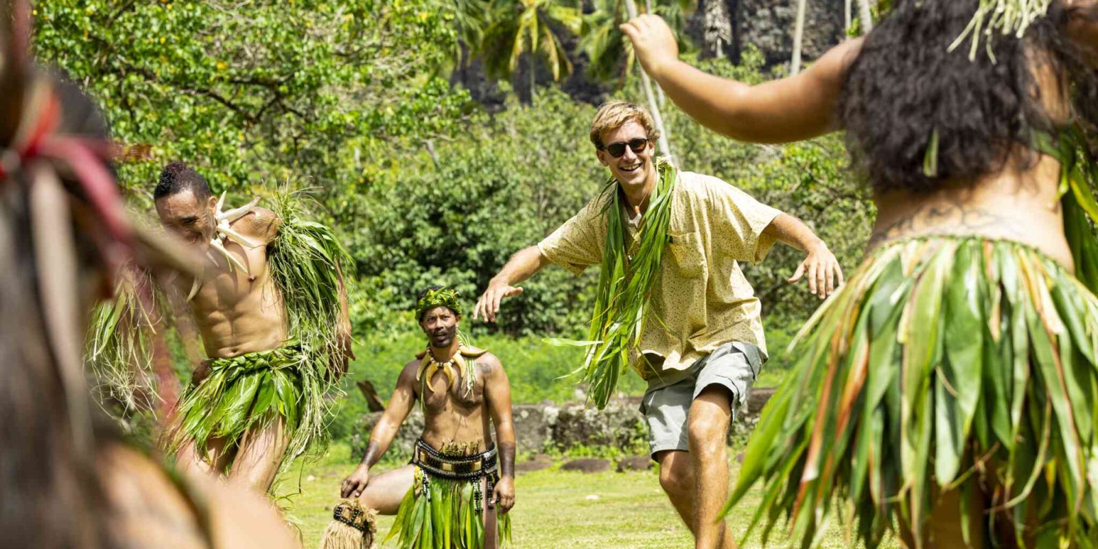
[[[444,453],[446,453],[444,451]],[[450,453],[463,456],[463,453]],[[482,503],[490,498],[494,478],[451,480],[416,467],[412,489],[401,501],[385,542],[396,538],[400,549],[481,549],[484,547]],[[511,515],[496,516],[496,539],[511,542]]]

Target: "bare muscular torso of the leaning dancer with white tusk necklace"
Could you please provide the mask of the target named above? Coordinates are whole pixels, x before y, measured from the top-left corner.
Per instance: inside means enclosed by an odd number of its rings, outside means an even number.
[[[233,228],[253,236],[250,217],[242,217]],[[250,273],[211,250],[205,281],[191,302],[206,354],[211,358],[235,357],[282,346],[287,339],[285,307],[270,276],[267,247],[246,248],[229,240],[225,248]]]

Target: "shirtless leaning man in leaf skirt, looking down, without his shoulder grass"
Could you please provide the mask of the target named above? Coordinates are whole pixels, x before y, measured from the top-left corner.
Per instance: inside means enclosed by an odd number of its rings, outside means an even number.
[[[317,351],[296,333],[300,318],[291,329],[271,268],[279,233],[289,227],[274,212],[254,205],[221,212],[205,179],[182,163],[164,169],[154,198],[163,224],[209,258],[202,280],[179,280],[179,290],[190,293],[210,360],[194,370],[180,400],[169,447],[183,468],[227,472],[267,491],[285,458],[302,453],[323,433],[317,393],[346,368],[348,347]],[[328,260],[336,267],[338,254],[333,256]],[[318,271],[339,272],[337,267]],[[338,292],[332,317],[339,325],[330,333],[347,340],[341,285]]]

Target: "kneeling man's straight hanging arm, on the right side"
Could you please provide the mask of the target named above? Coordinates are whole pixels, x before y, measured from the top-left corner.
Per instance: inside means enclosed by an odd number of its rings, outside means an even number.
[[[500,482],[492,492],[491,503],[500,505],[500,513],[506,514],[515,505],[515,424],[511,416],[511,381],[500,359],[494,356],[489,357],[484,368],[484,396],[495,425],[500,456]]]

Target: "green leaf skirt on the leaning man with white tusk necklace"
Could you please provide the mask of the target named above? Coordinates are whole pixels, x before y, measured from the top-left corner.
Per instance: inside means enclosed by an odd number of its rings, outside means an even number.
[[[231,447],[245,433],[282,418],[291,459],[309,447],[316,436],[301,428],[306,407],[323,399],[323,386],[307,383],[303,373],[315,368],[315,358],[301,344],[208,362],[210,374],[183,393],[169,432],[169,451],[175,453],[193,440],[205,455],[213,438]]]

